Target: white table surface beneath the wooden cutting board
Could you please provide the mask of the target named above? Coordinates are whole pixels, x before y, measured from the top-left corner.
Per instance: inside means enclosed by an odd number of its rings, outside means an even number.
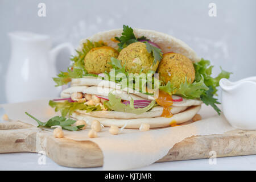
[[[102,170],[102,167],[63,167],[47,157],[46,163],[40,165],[40,157],[40,154],[28,152],[0,154],[0,170]],[[209,164],[209,159],[155,163],[135,170],[256,170],[256,155],[217,158],[216,164]]]

